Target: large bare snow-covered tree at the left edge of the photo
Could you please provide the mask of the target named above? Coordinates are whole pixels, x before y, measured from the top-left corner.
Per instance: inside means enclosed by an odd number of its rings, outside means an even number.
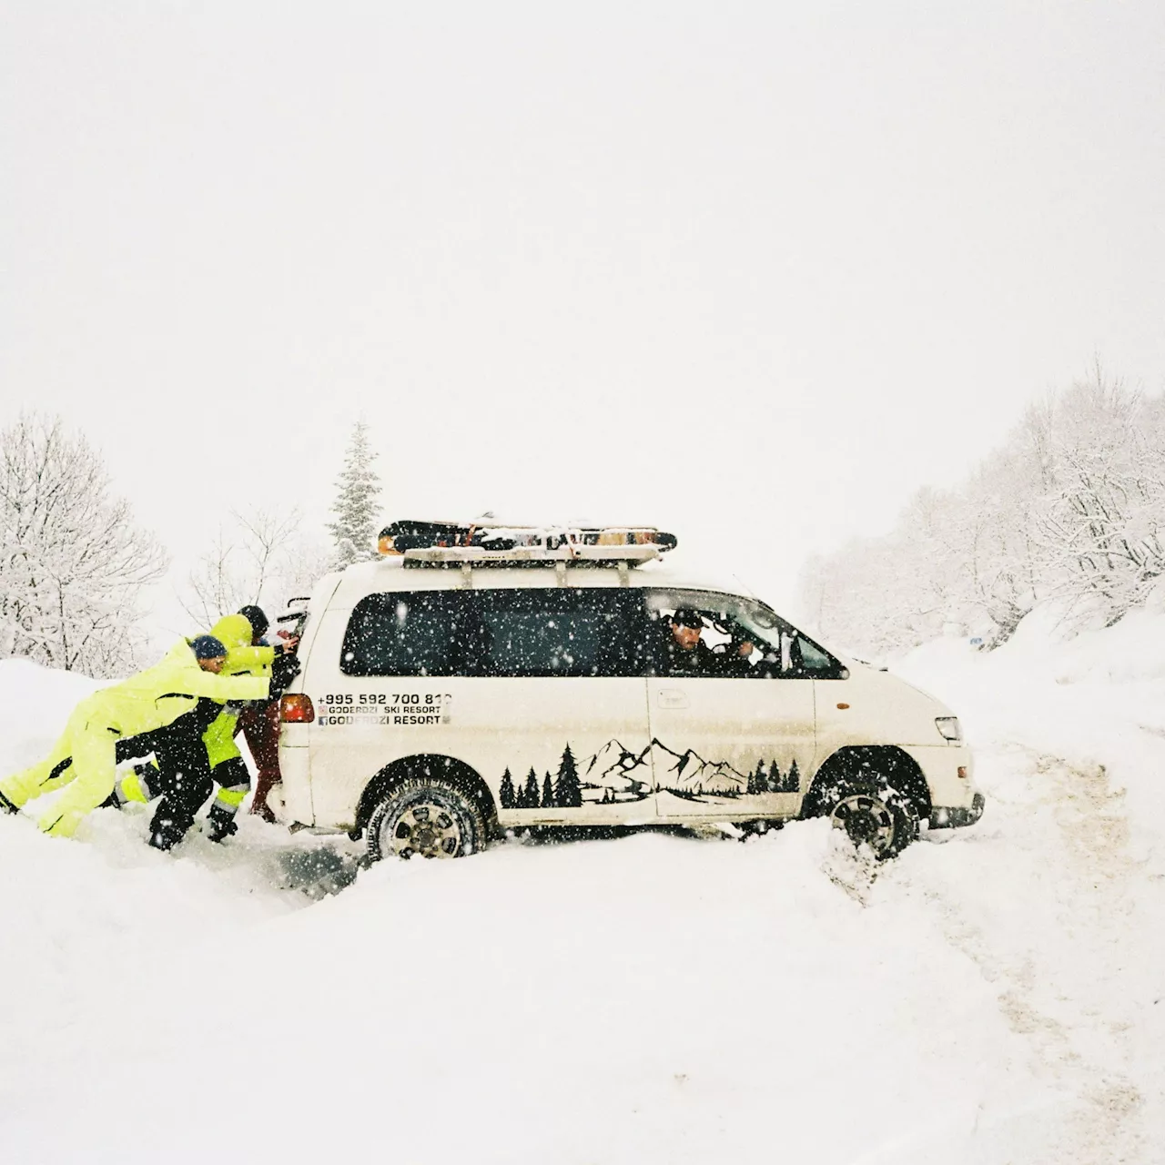
[[[132,670],[144,644],[140,594],[167,562],[59,417],[26,414],[0,433],[0,657],[100,677]]]

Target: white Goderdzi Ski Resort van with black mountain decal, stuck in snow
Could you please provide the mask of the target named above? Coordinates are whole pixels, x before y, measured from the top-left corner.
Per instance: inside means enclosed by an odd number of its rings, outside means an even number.
[[[301,633],[280,817],[373,859],[819,814],[890,857],[983,811],[939,701],[655,546],[411,549],[326,576]]]

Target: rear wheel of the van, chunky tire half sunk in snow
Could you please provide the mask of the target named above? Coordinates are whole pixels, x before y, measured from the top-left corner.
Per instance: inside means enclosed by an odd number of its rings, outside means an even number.
[[[481,810],[439,777],[402,781],[368,819],[368,860],[464,857],[486,843]]]

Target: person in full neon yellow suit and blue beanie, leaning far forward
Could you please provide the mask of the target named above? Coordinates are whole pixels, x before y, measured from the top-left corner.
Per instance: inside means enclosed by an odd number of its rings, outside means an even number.
[[[181,640],[161,663],[82,700],[45,760],[0,781],[0,807],[15,812],[68,785],[37,825],[52,836],[72,836],[113,791],[119,740],[168,728],[195,712],[199,700],[267,698],[269,680],[262,676],[219,675],[227,657],[225,645],[210,635]]]

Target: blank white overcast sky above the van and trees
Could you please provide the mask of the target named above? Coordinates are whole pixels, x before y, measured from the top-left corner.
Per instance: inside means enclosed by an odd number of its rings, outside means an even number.
[[[1094,353],[1165,384],[1165,5],[0,0],[0,424],[232,507],[675,530],[778,603]]]

